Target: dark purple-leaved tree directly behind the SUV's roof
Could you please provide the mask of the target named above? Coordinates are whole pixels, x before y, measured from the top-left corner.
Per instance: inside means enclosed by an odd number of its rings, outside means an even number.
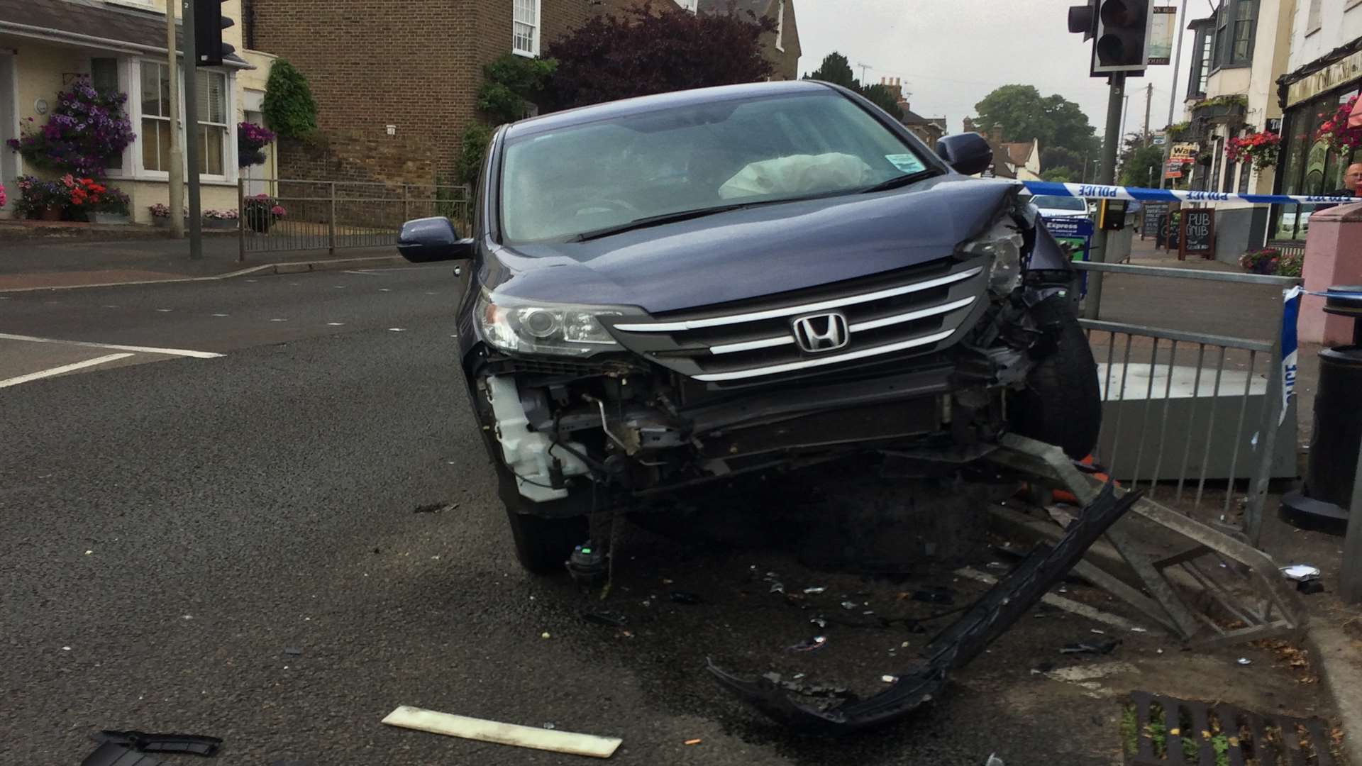
[[[772,74],[761,35],[775,22],[755,14],[691,14],[667,4],[598,15],[552,42],[558,63],[545,106],[568,109],[692,87],[763,80]]]

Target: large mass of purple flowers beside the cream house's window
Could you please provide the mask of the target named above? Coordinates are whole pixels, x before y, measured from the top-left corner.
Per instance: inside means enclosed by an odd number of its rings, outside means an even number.
[[[121,93],[101,93],[79,78],[57,94],[57,108],[42,128],[5,143],[34,165],[102,179],[109,161],[136,138],[123,110],[127,99]]]

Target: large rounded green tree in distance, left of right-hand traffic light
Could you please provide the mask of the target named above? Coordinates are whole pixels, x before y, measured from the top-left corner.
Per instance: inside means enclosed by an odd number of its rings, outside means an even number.
[[[1098,155],[1098,138],[1079,105],[1062,95],[1042,97],[1030,85],[1005,85],[994,89],[974,105],[975,124],[982,129],[1002,127],[1002,140],[1030,142],[1041,139],[1041,147],[1068,149],[1080,157]],[[1043,166],[1043,161],[1042,161]]]

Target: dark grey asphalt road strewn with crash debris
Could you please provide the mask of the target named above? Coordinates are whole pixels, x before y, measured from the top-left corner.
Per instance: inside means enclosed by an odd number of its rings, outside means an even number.
[[[0,384],[132,354],[0,388],[0,763],[79,763],[101,728],[221,736],[227,765],[582,762],[381,725],[398,705],[620,736],[620,763],[1118,759],[1117,703],[1030,669],[1076,617],[1026,620],[910,722],[828,741],[757,718],[706,657],[873,694],[929,637],[809,619],[847,597],[925,616],[895,598],[911,583],[633,527],[605,604],[523,574],[455,373],[456,292],[421,267],[0,300]],[[828,590],[791,607],[768,571]],[[582,620],[602,608],[628,624]]]

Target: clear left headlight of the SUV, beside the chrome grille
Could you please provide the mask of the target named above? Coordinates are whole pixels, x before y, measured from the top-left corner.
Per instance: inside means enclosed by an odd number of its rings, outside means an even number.
[[[617,352],[622,346],[597,320],[622,315],[624,309],[602,305],[535,303],[482,290],[477,319],[482,335],[504,352],[527,354],[591,356]]]

